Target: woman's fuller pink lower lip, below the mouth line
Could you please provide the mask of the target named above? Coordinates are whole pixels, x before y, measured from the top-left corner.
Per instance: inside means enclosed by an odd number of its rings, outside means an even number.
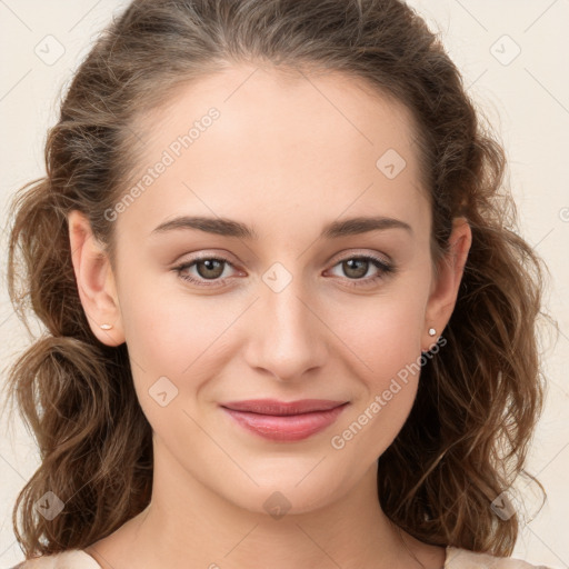
[[[307,439],[332,425],[348,403],[328,411],[313,411],[301,415],[259,415],[249,411],[236,411],[223,407],[241,427],[270,440],[296,441]]]

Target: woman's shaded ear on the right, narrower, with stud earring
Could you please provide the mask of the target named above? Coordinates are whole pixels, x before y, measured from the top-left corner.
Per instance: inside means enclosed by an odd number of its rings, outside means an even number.
[[[449,251],[438,262],[438,274],[433,274],[432,278],[425,313],[423,346],[427,345],[428,348],[423,351],[428,351],[435,346],[455,310],[471,243],[472,232],[466,218],[456,218],[449,237]],[[435,336],[428,333],[431,328],[436,330]]]

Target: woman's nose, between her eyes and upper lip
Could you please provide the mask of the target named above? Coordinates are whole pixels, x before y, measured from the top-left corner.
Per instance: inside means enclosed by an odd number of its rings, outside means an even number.
[[[260,282],[259,290],[244,349],[247,363],[281,382],[306,380],[308,371],[315,372],[329,357],[331,332],[319,303],[302,289],[300,278],[280,291]]]

